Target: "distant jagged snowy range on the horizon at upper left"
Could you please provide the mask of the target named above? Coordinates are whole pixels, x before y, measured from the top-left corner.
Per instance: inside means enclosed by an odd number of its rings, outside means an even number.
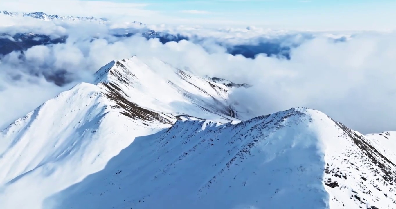
[[[11,11],[0,11],[0,14],[8,15],[11,17],[32,17],[34,19],[40,19],[43,21],[61,20],[61,21],[86,21],[86,22],[97,22],[97,23],[107,22],[107,19],[105,18],[99,19],[96,17],[48,15],[44,12],[18,13]]]

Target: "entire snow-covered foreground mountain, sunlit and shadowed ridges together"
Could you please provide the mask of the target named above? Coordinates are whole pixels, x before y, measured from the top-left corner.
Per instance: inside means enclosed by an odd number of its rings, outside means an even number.
[[[152,58],[95,76],[0,133],[0,208],[396,208],[393,132],[308,108],[241,121],[247,85]]]

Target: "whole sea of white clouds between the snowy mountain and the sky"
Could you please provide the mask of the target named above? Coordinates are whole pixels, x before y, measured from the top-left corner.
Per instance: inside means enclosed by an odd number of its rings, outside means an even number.
[[[148,29],[187,40],[114,36]],[[0,15],[0,34],[12,39],[25,32],[67,40],[1,56],[0,128],[61,91],[92,82],[93,73],[110,61],[137,55],[252,85],[230,95],[252,117],[300,106],[318,109],[362,133],[396,129],[394,32],[137,26]]]

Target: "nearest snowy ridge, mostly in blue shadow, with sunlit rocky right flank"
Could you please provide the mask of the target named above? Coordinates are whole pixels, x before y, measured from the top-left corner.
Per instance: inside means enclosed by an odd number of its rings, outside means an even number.
[[[75,209],[394,208],[396,167],[366,140],[305,108],[238,124],[177,122],[47,201]]]

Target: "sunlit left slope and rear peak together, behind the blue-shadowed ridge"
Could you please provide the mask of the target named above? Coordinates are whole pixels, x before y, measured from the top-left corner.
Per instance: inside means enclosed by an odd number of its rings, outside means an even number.
[[[177,118],[236,120],[225,101],[228,87],[155,59],[150,63],[136,57],[112,61],[97,72],[96,85],[79,84],[2,131],[0,208],[40,208],[45,197],[103,169],[135,137]]]

